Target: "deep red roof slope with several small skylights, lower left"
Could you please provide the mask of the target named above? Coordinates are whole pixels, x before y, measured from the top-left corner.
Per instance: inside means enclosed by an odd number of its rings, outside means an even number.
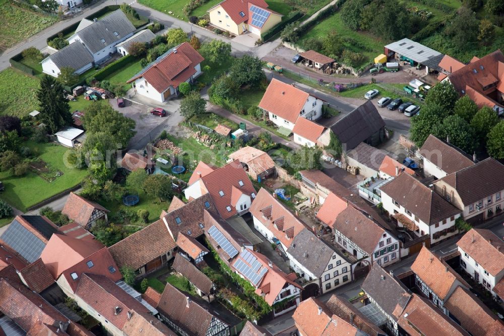
[[[90,261],[92,263],[91,267],[89,267],[88,265],[88,262]],[[78,278],[74,280],[72,273],[76,273]],[[119,267],[115,263],[112,255],[106,247],[102,248],[96,253],[93,253],[81,262],[65,270],[63,273],[61,273],[61,276],[64,276],[67,279],[70,288],[75,292],[82,274],[84,273],[103,275],[114,283],[122,278]]]

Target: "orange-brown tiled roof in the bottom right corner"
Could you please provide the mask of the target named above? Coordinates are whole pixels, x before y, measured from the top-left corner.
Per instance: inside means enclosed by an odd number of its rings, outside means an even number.
[[[498,320],[480,299],[462,287],[457,287],[445,302],[445,307],[473,335],[484,335],[493,322]],[[504,330],[504,325],[502,327]]]

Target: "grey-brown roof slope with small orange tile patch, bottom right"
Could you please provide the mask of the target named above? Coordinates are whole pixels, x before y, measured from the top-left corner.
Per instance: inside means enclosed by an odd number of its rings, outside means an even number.
[[[361,288],[396,321],[411,297],[411,292],[377,263],[371,267]]]

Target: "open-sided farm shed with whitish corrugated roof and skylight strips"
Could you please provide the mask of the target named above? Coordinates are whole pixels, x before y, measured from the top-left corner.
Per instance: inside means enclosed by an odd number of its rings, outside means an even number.
[[[387,55],[389,60],[393,59],[396,62],[408,63],[412,67],[418,64],[424,65],[426,74],[443,70],[439,67],[439,62],[445,56],[443,53],[409,38],[387,44],[384,47],[384,54]]]

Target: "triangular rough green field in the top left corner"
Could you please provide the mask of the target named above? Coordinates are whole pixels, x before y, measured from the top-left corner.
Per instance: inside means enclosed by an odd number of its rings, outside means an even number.
[[[35,35],[56,22],[56,17],[12,5],[0,0],[0,53]]]

